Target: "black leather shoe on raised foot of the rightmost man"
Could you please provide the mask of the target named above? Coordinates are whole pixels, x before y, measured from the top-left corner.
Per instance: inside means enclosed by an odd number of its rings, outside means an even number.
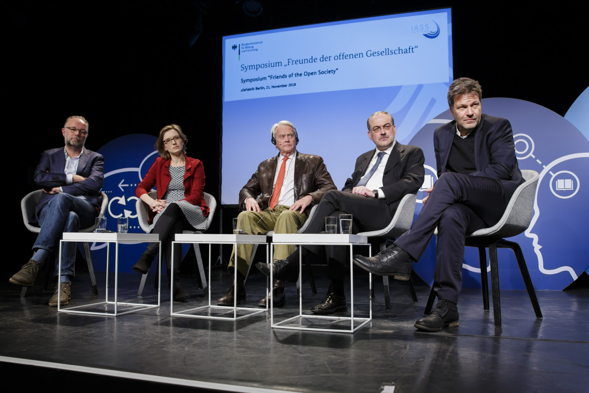
[[[370,273],[380,276],[395,276],[397,280],[408,280],[413,262],[401,247],[392,245],[375,256],[354,256],[354,263]]]

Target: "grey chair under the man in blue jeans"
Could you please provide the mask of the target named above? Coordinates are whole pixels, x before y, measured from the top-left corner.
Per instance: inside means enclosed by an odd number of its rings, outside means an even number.
[[[28,193],[27,195],[25,195],[25,197],[21,200],[22,220],[25,223],[25,226],[27,227],[27,229],[33,233],[41,232],[41,227],[39,227],[37,224],[29,223],[29,217],[32,217],[33,214],[35,214],[35,207],[37,206],[39,199],[41,199],[42,193],[43,193],[42,190],[32,191],[31,193]],[[107,194],[102,193],[102,204],[100,206],[100,212],[98,213],[98,216],[104,217],[104,213],[107,210],[107,206],[108,206]],[[81,228],[79,232],[82,232],[82,233],[94,232],[94,224],[92,224],[92,226],[87,227],[87,228]],[[90,253],[90,245],[88,244],[88,242],[83,242],[82,246],[84,247],[84,255],[86,258],[86,263],[88,264],[88,273],[90,274],[90,284],[92,285],[92,292],[94,292],[95,295],[98,295],[98,287],[96,285],[96,277],[94,275],[94,265],[92,265],[92,255]],[[43,289],[47,289],[48,282],[49,282],[49,276],[51,275],[51,272],[49,271],[49,265],[50,265],[49,263],[45,263],[45,266],[44,266],[46,269],[46,272],[45,272],[45,283],[43,285]],[[27,288],[28,287],[26,287],[26,286],[22,287],[21,298],[24,298],[25,293],[27,293]]]

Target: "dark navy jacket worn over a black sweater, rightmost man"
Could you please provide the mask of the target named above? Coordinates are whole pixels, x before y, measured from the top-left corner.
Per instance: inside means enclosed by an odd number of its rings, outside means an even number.
[[[444,124],[434,131],[434,150],[438,177],[447,172],[446,164],[456,133],[456,121]],[[475,133],[475,164],[477,170],[470,176],[497,179],[503,184],[505,203],[524,183],[515,158],[515,144],[511,124],[507,119],[482,115]]]

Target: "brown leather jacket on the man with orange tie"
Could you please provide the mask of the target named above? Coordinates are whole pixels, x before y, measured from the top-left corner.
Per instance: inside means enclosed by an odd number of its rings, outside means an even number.
[[[247,181],[243,189],[239,191],[239,206],[241,210],[245,209],[244,201],[246,198],[257,198],[260,194],[258,203],[260,209],[266,209],[272,197],[272,187],[274,186],[274,173],[278,156],[263,161],[258,166],[256,173]],[[294,161],[294,200],[299,200],[304,196],[313,197],[313,206],[319,203],[319,200],[326,191],[336,190],[331,175],[323,163],[323,158],[313,156],[313,154],[302,154],[297,151],[296,160]]]

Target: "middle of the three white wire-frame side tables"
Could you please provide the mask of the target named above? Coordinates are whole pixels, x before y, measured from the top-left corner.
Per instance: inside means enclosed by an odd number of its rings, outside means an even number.
[[[233,306],[217,306],[211,304],[211,247],[212,245],[233,245],[237,252],[238,244],[250,244],[250,245],[266,245],[266,262],[268,261],[268,242],[266,235],[216,235],[214,233],[178,233],[175,241],[172,242],[172,282],[174,282],[174,244],[176,243],[192,243],[194,247],[198,247],[199,244],[209,245],[209,304],[206,306],[199,306],[184,311],[174,312],[174,293],[171,295],[170,300],[170,316],[183,316],[184,318],[201,318],[201,319],[223,319],[225,321],[237,321],[238,319],[247,318],[248,316],[257,315],[259,313],[267,312],[268,305],[266,304],[265,309],[250,308],[250,307],[237,307],[237,273],[234,275],[235,281],[233,283],[235,288],[235,296],[233,297]],[[235,267],[237,269],[237,266]],[[266,280],[266,292],[268,290],[268,281]],[[233,310],[233,317],[231,316],[211,316],[211,315],[192,315],[188,312],[195,312],[201,309],[225,309]],[[237,311],[252,311],[246,315],[237,316]]]

